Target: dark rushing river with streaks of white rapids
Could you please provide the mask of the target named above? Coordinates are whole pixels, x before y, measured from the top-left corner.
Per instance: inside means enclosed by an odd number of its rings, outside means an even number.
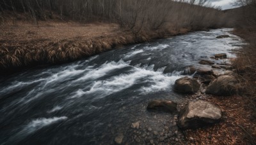
[[[113,144],[118,134],[131,144],[157,140],[148,128],[161,132],[174,114],[148,112],[148,101],[182,102],[172,86],[186,66],[207,67],[198,61],[215,53],[235,57],[228,50],[244,43],[229,31],[191,32],[2,77],[0,144]],[[222,34],[231,37],[216,39]],[[131,128],[137,121],[140,128]]]

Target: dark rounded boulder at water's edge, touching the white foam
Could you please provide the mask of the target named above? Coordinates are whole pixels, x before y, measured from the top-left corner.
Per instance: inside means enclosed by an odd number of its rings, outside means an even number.
[[[174,90],[181,93],[196,93],[200,88],[200,83],[196,79],[184,78],[177,79],[175,81]]]

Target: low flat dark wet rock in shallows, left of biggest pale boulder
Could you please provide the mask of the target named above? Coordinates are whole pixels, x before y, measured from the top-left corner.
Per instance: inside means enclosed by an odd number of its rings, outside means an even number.
[[[171,100],[152,100],[148,102],[147,109],[158,109],[167,112],[177,111],[177,103]]]

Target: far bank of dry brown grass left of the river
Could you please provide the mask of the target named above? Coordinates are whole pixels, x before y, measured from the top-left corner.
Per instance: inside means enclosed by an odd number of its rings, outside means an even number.
[[[168,32],[138,32],[120,29],[118,24],[40,22],[0,27],[1,74],[23,68],[63,64],[106,52],[122,45],[186,34],[189,29]]]

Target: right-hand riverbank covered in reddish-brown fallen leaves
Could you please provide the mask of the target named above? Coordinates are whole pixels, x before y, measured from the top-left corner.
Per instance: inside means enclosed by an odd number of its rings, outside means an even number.
[[[243,88],[239,94],[231,96],[203,95],[201,99],[218,105],[223,111],[220,123],[213,127],[186,130],[184,134],[189,144],[255,144],[256,139],[256,93],[255,93],[255,49],[256,33],[235,29],[234,34],[248,44],[236,52],[232,60],[232,70]],[[198,97],[192,95],[188,100]]]

